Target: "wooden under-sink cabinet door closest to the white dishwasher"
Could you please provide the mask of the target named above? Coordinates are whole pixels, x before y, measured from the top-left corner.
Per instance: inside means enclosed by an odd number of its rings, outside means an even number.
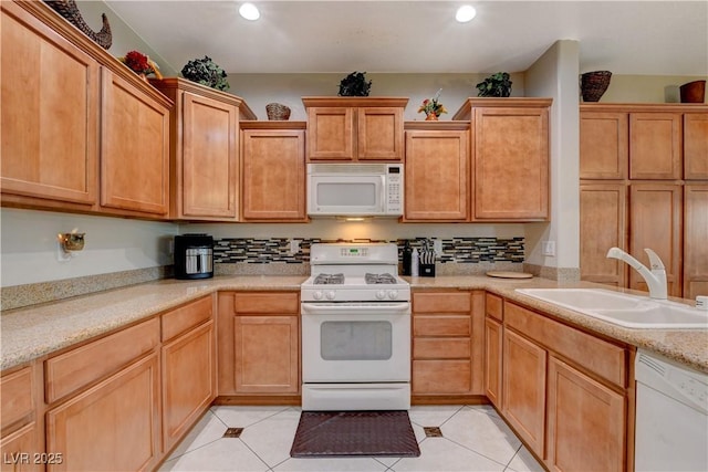
[[[625,399],[549,360],[548,462],[555,471],[625,470]]]

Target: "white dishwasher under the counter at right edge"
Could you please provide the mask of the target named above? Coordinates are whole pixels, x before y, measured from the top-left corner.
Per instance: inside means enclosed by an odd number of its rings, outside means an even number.
[[[708,375],[638,349],[635,376],[635,470],[708,471]]]

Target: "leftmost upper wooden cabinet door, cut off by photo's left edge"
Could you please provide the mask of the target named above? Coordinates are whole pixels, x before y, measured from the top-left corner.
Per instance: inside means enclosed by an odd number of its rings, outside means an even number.
[[[96,203],[98,64],[11,1],[1,2],[3,195]]]

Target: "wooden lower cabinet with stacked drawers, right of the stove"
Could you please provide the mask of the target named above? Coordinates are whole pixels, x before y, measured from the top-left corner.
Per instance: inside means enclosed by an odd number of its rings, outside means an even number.
[[[413,294],[414,397],[482,394],[482,292]]]

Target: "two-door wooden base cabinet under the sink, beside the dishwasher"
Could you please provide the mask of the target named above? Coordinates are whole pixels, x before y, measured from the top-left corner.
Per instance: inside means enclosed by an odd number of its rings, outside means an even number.
[[[550,470],[629,471],[629,347],[504,302],[501,415]]]

